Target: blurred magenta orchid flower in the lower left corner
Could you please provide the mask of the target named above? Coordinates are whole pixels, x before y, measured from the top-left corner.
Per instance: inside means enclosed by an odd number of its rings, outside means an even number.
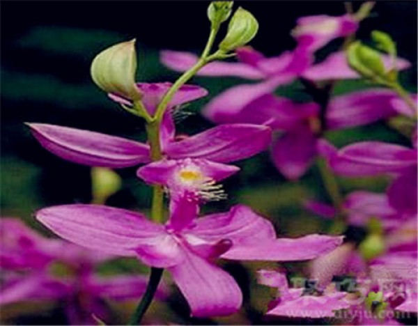
[[[65,302],[72,325],[91,325],[92,314],[105,318],[108,300],[137,299],[144,294],[147,280],[133,274],[100,277],[94,268],[115,258],[102,251],[89,251],[63,240],[44,238],[19,219],[1,220],[0,305],[25,301]],[[68,273],[52,274],[54,263]],[[167,296],[164,284],[157,298]]]

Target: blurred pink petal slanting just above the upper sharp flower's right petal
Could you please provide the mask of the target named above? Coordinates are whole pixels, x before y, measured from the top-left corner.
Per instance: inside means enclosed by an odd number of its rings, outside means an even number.
[[[254,100],[272,93],[278,84],[276,79],[269,79],[259,84],[231,87],[210,101],[203,108],[203,115],[215,123],[236,122],[233,121],[234,116]]]

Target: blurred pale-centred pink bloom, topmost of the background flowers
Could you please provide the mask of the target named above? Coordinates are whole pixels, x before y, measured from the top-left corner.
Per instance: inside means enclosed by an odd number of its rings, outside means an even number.
[[[315,52],[335,38],[355,33],[358,26],[355,17],[350,15],[300,17],[297,19],[297,26],[293,29],[292,36],[299,47]]]

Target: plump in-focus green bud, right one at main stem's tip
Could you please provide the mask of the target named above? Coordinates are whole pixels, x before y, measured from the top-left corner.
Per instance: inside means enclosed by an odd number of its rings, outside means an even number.
[[[257,31],[258,22],[256,18],[249,11],[240,7],[235,11],[229,22],[228,32],[219,44],[219,49],[229,52],[237,47],[242,47],[256,36]]]

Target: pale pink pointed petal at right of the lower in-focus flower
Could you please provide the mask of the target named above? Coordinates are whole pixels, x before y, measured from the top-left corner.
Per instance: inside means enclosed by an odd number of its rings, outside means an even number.
[[[243,261],[305,261],[327,254],[343,242],[343,237],[312,234],[295,239],[254,240],[249,238],[222,255]]]

